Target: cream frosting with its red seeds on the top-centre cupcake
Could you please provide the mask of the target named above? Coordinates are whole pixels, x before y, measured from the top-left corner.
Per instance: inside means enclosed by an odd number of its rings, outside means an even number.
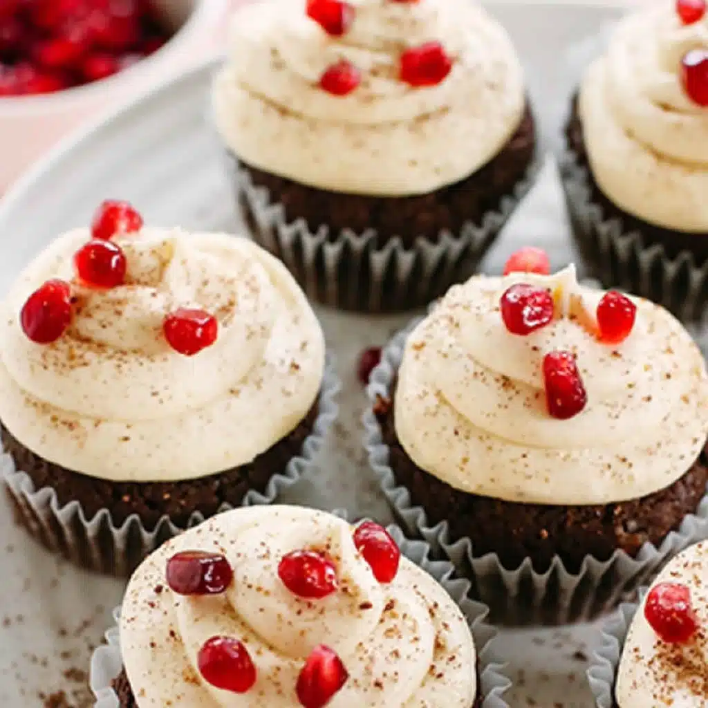
[[[505,31],[469,0],[266,0],[236,13],[214,102],[247,164],[399,196],[486,164],[525,92]]]

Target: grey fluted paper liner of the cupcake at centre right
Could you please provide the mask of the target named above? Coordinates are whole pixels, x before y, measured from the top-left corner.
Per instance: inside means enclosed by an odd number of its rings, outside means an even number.
[[[372,406],[377,396],[389,395],[406,338],[419,321],[399,332],[384,349],[367,388]],[[622,550],[607,561],[588,556],[578,573],[568,571],[559,556],[544,573],[533,569],[530,558],[517,568],[507,569],[498,554],[475,556],[469,538],[451,539],[446,522],[430,526],[423,508],[413,506],[409,491],[396,483],[389,464],[389,448],[372,406],[363,417],[364,444],[370,466],[397,520],[409,535],[426,539],[434,554],[450,559],[459,573],[472,581],[474,597],[489,606],[490,619],[495,624],[567,624],[597,617],[649,581],[668,558],[708,537],[707,490],[696,514],[687,516],[680,529],[670,532],[659,547],[644,544],[636,558]]]

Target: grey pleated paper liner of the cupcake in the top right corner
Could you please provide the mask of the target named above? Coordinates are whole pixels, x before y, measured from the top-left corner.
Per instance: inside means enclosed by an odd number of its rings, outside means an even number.
[[[651,299],[682,321],[708,319],[708,263],[699,265],[690,251],[670,258],[661,244],[646,245],[641,232],[624,232],[622,219],[605,219],[592,201],[590,173],[570,149],[559,166],[573,238],[590,275]]]

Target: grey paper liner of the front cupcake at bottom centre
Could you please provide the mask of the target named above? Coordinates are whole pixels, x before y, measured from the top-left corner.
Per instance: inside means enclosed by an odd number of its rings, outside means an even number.
[[[346,518],[343,512],[338,513]],[[496,630],[487,624],[488,608],[469,599],[469,582],[455,576],[455,569],[448,561],[433,561],[428,557],[430,547],[423,541],[407,539],[397,526],[389,526],[389,533],[399,544],[401,553],[413,563],[430,573],[442,585],[453,600],[459,605],[467,617],[469,626],[474,635],[477,651],[477,667],[479,669],[479,689],[484,700],[481,708],[509,708],[503,695],[511,685],[510,680],[504,675],[504,667],[496,663],[493,656],[493,639]],[[114,610],[113,617],[116,627],[112,627],[105,634],[106,643],[96,649],[91,658],[91,690],[96,696],[95,708],[118,708],[118,697],[115,695],[111,683],[122,670],[120,656],[120,638],[118,624],[120,623],[120,607]],[[470,667],[474,670],[474,667]]]

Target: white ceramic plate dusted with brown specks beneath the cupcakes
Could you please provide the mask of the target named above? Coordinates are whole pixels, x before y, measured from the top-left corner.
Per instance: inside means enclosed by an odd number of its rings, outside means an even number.
[[[542,134],[551,148],[576,78],[568,63],[583,64],[580,44],[598,35],[619,10],[602,6],[515,4],[493,12],[510,31],[527,67]],[[571,50],[572,48],[572,50]],[[570,59],[567,52],[570,52]],[[208,123],[212,67],[204,66],[132,103],[100,125],[69,139],[31,171],[0,205],[0,292],[47,241],[86,224],[108,197],[135,202],[148,222],[199,229],[234,227],[221,151]],[[486,267],[498,270],[522,244],[544,246],[555,266],[571,252],[554,167],[513,219]],[[297,501],[346,506],[353,515],[387,520],[387,509],[367,476],[358,418],[364,397],[355,381],[358,351],[383,343],[406,318],[367,319],[321,312],[336,350],[345,389],[341,424],[321,461],[321,474],[297,492]],[[40,693],[64,690],[70,705],[91,704],[84,677],[91,647],[110,626],[122,584],[88,576],[53,559],[16,530],[0,510],[0,705],[41,705]],[[588,707],[587,644],[593,627],[563,632],[504,632],[498,651],[520,679],[513,706]]]

